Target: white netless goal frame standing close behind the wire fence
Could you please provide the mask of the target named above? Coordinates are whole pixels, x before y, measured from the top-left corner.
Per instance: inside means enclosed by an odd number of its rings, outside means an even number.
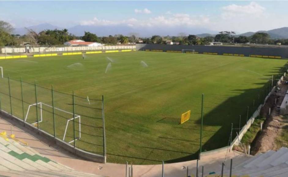
[[[30,108],[31,108],[32,106],[35,106],[35,107],[36,107],[36,105],[37,105],[37,106],[39,105],[38,108],[40,108],[40,120],[39,120],[38,122],[32,123],[32,125],[35,125],[35,124],[40,123],[40,122],[43,121],[43,111],[42,111],[42,110],[43,110],[43,109],[42,109],[43,105],[45,105],[45,106],[47,106],[47,107],[50,107],[50,108],[53,108],[53,106],[48,105],[48,104],[45,104],[45,103],[42,103],[42,102],[30,104],[30,105],[28,106],[28,110],[27,110],[27,113],[26,113],[26,116],[25,116],[25,119],[24,119],[25,122],[26,122],[26,120],[27,120],[27,118],[28,118],[28,114],[29,114]],[[70,112],[68,112],[68,111],[59,109],[59,108],[57,108],[57,107],[54,107],[54,109],[55,109],[55,110],[62,111],[62,112],[67,113],[67,114],[71,114],[72,117],[73,117],[73,113],[70,113]],[[74,118],[68,119],[67,122],[66,122],[65,132],[64,132],[64,135],[63,135],[63,141],[65,141],[65,137],[66,137],[66,132],[67,132],[67,128],[68,128],[68,123],[69,123],[69,121],[72,121],[73,119],[77,119],[77,118],[79,119],[79,137],[78,137],[77,139],[80,139],[80,138],[81,138],[81,116],[78,115],[78,114],[74,114],[74,115],[75,115]],[[77,139],[75,139],[75,140],[77,140]],[[68,142],[68,143],[72,143],[72,142],[74,142],[74,140],[72,140],[72,141],[70,141],[70,142]]]

